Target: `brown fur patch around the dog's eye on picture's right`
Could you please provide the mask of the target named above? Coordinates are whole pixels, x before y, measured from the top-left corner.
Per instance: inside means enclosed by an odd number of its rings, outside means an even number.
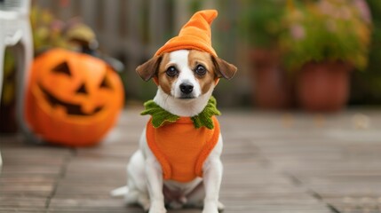
[[[210,54],[204,51],[189,51],[188,65],[190,69],[194,71],[194,77],[200,84],[202,94],[205,94],[218,78]],[[206,73],[204,75],[197,74],[196,69],[198,66],[205,67]]]

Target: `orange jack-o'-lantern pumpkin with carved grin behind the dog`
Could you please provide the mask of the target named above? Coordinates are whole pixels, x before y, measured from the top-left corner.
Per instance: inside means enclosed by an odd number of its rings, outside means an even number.
[[[103,60],[54,49],[33,63],[26,118],[48,142],[91,146],[115,123],[123,97],[119,76]]]

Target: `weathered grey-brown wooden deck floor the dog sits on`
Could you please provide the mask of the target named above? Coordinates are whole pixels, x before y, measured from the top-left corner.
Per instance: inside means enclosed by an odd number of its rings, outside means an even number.
[[[226,213],[381,212],[381,111],[221,111]],[[109,192],[125,184],[124,168],[146,121],[129,109],[92,148],[1,136],[0,212],[143,212]]]

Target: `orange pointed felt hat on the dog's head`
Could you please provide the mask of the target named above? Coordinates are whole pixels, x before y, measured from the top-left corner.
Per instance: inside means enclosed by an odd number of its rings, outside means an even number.
[[[179,50],[206,51],[217,57],[216,51],[211,47],[211,22],[217,17],[216,10],[195,12],[187,24],[181,28],[179,36],[171,38],[165,43],[155,56],[164,52]]]

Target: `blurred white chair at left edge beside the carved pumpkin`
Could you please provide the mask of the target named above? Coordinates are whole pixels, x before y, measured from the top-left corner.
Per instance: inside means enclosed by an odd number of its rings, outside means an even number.
[[[4,52],[7,47],[14,51],[17,61],[16,114],[21,132],[33,140],[24,120],[25,89],[29,67],[33,59],[33,40],[29,20],[30,0],[0,0],[0,100],[4,81]],[[0,170],[2,160],[0,155]]]

